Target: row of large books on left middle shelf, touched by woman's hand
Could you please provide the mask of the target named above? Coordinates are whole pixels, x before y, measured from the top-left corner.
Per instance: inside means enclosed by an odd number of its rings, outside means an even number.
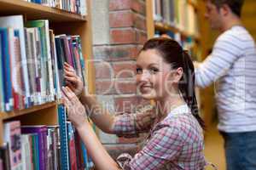
[[[0,111],[21,110],[61,98],[64,62],[84,80],[79,36],[55,36],[48,20],[0,17]]]

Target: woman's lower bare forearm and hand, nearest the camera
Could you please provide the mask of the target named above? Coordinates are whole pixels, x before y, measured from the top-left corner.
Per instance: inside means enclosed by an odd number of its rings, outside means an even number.
[[[100,170],[118,170],[118,164],[113,161],[104,149],[99,139],[97,139],[90,122],[86,119],[84,106],[79,102],[79,99],[73,94],[70,88],[62,88],[63,101],[67,107],[68,118],[79,132],[80,138],[86,145],[90,157],[94,161],[96,168]]]

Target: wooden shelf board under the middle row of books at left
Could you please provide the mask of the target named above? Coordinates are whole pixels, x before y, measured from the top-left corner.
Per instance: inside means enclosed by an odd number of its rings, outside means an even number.
[[[35,106],[32,106],[31,108],[28,108],[28,109],[25,109],[25,110],[0,112],[0,119],[2,119],[4,121],[4,120],[10,119],[10,118],[13,118],[15,116],[26,115],[26,114],[29,114],[29,113],[32,113],[32,112],[35,112],[35,111],[40,111],[40,110],[44,110],[44,109],[53,107],[55,105],[57,105],[57,103],[54,101],[54,102],[46,103],[46,104],[43,104],[43,105],[35,105]]]

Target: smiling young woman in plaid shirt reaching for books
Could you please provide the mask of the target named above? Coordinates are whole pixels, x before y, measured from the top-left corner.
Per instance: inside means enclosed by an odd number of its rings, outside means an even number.
[[[150,39],[137,57],[137,88],[143,99],[155,101],[154,112],[113,116],[84,94],[83,83],[71,66],[65,65],[65,73],[64,105],[97,169],[204,169],[204,124],[195,99],[194,66],[176,41]],[[124,154],[114,161],[90,127],[84,106],[92,111],[90,118],[96,126],[106,133],[148,132],[143,149],[134,157]]]

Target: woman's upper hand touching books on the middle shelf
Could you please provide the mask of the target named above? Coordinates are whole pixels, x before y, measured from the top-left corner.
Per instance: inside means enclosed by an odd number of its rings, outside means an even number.
[[[71,65],[64,63],[64,73],[67,87],[70,88],[74,94],[80,96],[84,90],[84,83],[81,78],[77,76]]]

